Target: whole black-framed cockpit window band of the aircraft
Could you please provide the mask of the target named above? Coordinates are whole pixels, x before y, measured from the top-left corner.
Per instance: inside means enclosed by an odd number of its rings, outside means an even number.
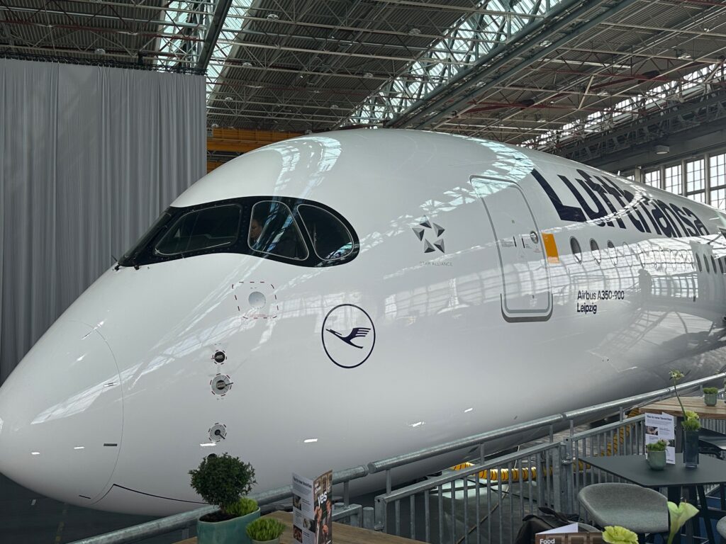
[[[168,207],[115,268],[211,253],[304,267],[338,266],[359,252],[355,229],[333,208],[312,200],[260,195]]]

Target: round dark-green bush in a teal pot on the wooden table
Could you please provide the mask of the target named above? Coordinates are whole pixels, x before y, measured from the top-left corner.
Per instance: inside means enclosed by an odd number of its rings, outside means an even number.
[[[257,503],[242,496],[256,483],[252,465],[228,453],[212,454],[189,474],[195,491],[206,502],[219,506],[219,510],[197,520],[198,543],[250,544],[245,529],[260,516]]]

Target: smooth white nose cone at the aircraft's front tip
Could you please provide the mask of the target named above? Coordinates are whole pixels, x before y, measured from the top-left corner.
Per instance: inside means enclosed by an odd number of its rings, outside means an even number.
[[[121,448],[113,353],[84,323],[58,321],[0,387],[0,472],[49,497],[105,492]]]

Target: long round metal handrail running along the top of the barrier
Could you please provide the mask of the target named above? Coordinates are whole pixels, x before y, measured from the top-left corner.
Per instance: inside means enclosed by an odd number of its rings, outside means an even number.
[[[706,378],[696,379],[693,382],[687,382],[678,386],[679,390],[687,391],[698,387],[702,384],[713,381],[714,379],[726,378],[726,372],[714,374]],[[661,390],[656,390],[643,395],[632,395],[630,397],[624,397],[618,400],[612,400],[608,403],[600,403],[588,408],[582,408],[579,410],[568,411],[565,413],[555,414],[553,416],[547,416],[544,418],[534,419],[532,421],[525,421],[520,424],[507,426],[502,429],[496,429],[494,431],[484,432],[480,434],[474,434],[473,436],[462,438],[460,440],[453,440],[451,442],[445,442],[444,444],[431,446],[430,448],[424,448],[422,450],[415,451],[413,453],[407,453],[401,456],[393,456],[378,461],[372,461],[367,465],[354,466],[349,469],[343,469],[341,471],[335,471],[333,473],[333,482],[335,484],[350,482],[354,479],[366,477],[368,474],[375,474],[376,472],[394,469],[398,466],[413,463],[415,461],[423,461],[428,458],[440,456],[444,453],[451,453],[456,450],[468,448],[473,445],[480,445],[483,442],[492,440],[495,438],[507,437],[512,434],[519,432],[525,432],[531,429],[537,429],[542,426],[554,425],[563,423],[565,421],[573,421],[575,419],[582,419],[587,416],[594,414],[600,414],[605,411],[621,410],[625,406],[634,406],[647,403],[650,400],[654,400],[659,397],[666,397],[673,394],[672,387],[666,387]],[[253,493],[248,495],[250,498],[257,500],[258,504],[264,506],[269,503],[274,503],[276,500],[282,500],[290,498],[292,495],[292,486],[286,485],[284,487],[278,487],[274,490],[265,491],[262,493]],[[171,532],[177,529],[184,529],[190,527],[198,518],[215,511],[215,506],[205,506],[198,508],[197,510],[182,512],[181,514],[174,514],[174,516],[168,516],[165,518],[155,519],[151,522],[146,522],[132,527],[126,527],[117,531],[108,532],[105,535],[97,535],[94,537],[85,538],[83,540],[76,540],[72,544],[127,544],[142,540],[143,538],[153,537],[156,535],[163,535],[164,533]]]

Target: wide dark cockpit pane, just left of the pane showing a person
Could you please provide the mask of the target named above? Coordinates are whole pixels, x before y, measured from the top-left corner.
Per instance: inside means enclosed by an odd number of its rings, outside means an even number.
[[[155,247],[157,255],[226,247],[237,242],[242,209],[237,205],[208,207],[186,213]]]

